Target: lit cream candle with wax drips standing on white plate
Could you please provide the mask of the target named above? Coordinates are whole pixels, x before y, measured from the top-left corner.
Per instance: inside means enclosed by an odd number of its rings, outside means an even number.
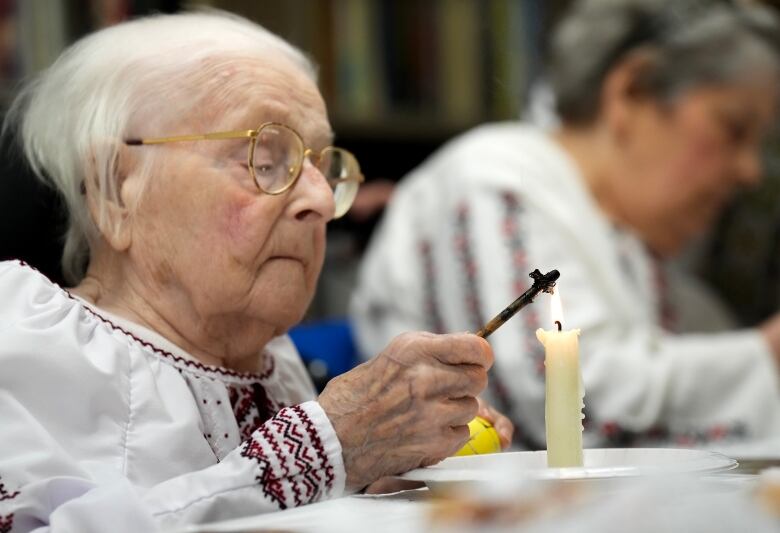
[[[544,345],[547,466],[582,466],[582,409],[585,391],[580,374],[580,330],[564,331],[559,290],[552,296],[552,321],[557,330],[538,329]]]

